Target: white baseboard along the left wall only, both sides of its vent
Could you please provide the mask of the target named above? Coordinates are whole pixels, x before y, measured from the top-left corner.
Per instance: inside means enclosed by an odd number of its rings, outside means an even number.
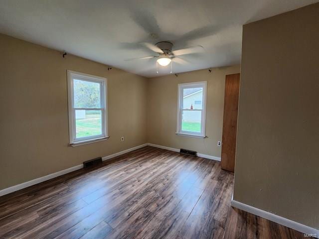
[[[124,154],[124,153],[128,153],[128,152],[131,152],[131,151],[133,151],[133,150],[136,150],[136,149],[145,147],[145,146],[147,146],[147,145],[148,145],[147,143],[141,144],[141,145],[138,145],[138,146],[136,146],[136,147],[129,148],[129,149],[123,150],[123,151],[121,151],[121,152],[111,154],[111,155],[109,155],[109,156],[102,157],[102,160],[104,161],[104,160],[107,160],[107,159],[110,159],[110,158],[114,158],[114,157],[119,156],[119,155],[122,155],[122,154]],[[67,173],[73,172],[73,171],[78,170],[78,169],[81,169],[81,168],[83,168],[83,164],[79,164],[79,165],[76,165],[76,166],[71,167],[71,168],[67,168],[67,169],[64,169],[64,170],[61,170],[61,171],[58,171],[58,172],[55,172],[55,173],[51,173],[51,174],[46,175],[46,176],[43,176],[43,177],[35,178],[35,179],[32,179],[32,180],[27,181],[27,182],[25,182],[25,183],[20,183],[20,184],[11,186],[11,187],[9,187],[9,188],[4,188],[4,189],[0,190],[0,196],[3,196],[3,195],[5,195],[5,194],[18,191],[18,190],[20,190],[20,189],[23,189],[23,188],[32,186],[32,185],[37,184],[37,183],[44,182],[44,181],[49,180],[49,179],[52,179],[52,178],[56,178],[56,177],[58,177],[58,176],[61,176],[61,175],[63,175],[63,174],[67,174]]]

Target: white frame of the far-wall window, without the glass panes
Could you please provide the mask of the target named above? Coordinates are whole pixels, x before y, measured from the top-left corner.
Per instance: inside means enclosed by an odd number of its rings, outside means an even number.
[[[187,88],[203,88],[203,99],[202,99],[202,109],[182,109],[183,108],[183,89]],[[204,138],[206,137],[206,98],[207,98],[207,81],[200,82],[192,82],[192,83],[183,83],[178,84],[178,100],[177,100],[177,130],[176,134],[181,136],[189,136],[196,138]],[[182,112],[183,111],[201,111],[201,130],[200,132],[192,132],[192,131],[183,131],[181,130],[182,123]]]

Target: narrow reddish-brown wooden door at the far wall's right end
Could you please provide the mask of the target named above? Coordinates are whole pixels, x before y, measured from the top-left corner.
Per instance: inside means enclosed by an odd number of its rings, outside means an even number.
[[[240,74],[226,75],[221,168],[234,172]]]

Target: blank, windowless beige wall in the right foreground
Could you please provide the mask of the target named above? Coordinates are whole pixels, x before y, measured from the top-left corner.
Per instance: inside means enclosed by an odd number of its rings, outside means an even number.
[[[243,27],[234,200],[319,228],[319,3]]]

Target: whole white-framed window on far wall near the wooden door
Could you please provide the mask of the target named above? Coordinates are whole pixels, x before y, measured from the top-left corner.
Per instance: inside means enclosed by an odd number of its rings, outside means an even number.
[[[178,85],[176,134],[205,137],[206,92],[206,81]]]

